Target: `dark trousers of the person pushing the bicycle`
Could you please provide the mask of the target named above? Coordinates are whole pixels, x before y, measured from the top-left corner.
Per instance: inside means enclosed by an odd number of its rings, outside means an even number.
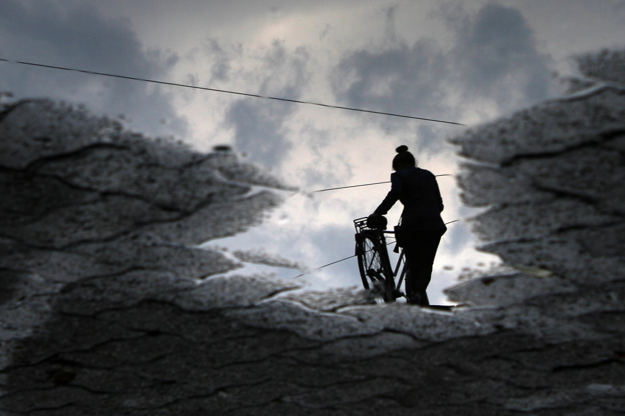
[[[414,299],[419,295],[419,304],[429,305],[426,289],[432,279],[432,264],[438,244],[446,230],[415,230],[404,242],[404,255],[408,266],[406,273],[406,296]]]

